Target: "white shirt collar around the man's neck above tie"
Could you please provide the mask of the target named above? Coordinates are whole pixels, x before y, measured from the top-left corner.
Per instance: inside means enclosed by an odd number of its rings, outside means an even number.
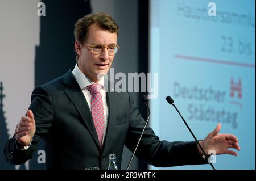
[[[79,84],[81,89],[87,89],[87,86],[92,85],[92,82],[82,71],[79,69],[78,65],[76,64],[75,68],[72,70],[72,74],[74,75],[76,82]],[[100,81],[98,82],[104,87],[104,76],[101,77]]]

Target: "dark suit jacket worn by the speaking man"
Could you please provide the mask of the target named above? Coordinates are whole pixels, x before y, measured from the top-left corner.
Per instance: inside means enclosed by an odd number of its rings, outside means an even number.
[[[107,169],[109,154],[117,155],[120,168],[124,145],[134,150],[145,121],[129,93],[109,92],[107,102],[108,128],[101,149],[90,109],[72,70],[36,87],[29,107],[36,121],[32,144],[28,150],[18,150],[15,138],[11,138],[5,146],[6,160],[13,164],[26,162],[42,139],[47,169]],[[159,141],[150,127],[145,129],[136,155],[160,167],[206,163],[195,141]]]

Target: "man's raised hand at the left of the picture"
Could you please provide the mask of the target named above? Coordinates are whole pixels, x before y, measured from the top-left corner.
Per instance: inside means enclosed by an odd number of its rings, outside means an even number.
[[[31,110],[27,111],[27,116],[22,116],[19,124],[16,125],[15,138],[20,145],[28,146],[35,134],[35,119]]]

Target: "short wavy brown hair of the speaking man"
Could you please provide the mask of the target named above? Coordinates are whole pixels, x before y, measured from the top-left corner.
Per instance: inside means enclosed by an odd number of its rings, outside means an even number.
[[[108,30],[111,33],[117,33],[118,36],[118,24],[109,14],[106,14],[105,12],[98,12],[95,14],[88,14],[77,20],[74,30],[75,40],[83,44],[83,42],[86,41],[88,37],[88,28],[92,24],[96,24],[99,28]],[[76,54],[76,60],[78,60],[78,57],[79,56]]]

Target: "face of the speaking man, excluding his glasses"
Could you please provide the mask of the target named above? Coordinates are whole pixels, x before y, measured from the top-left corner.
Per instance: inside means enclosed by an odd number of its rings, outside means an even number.
[[[102,45],[116,45],[117,33],[111,33],[108,30],[103,30],[92,24],[88,30],[88,38],[86,40],[88,44],[102,44]],[[100,54],[92,54],[92,49],[88,44],[84,44],[81,47],[81,54],[79,56],[79,69],[93,82],[98,82],[97,75],[100,73],[108,73],[114,56],[109,56],[108,50],[104,48]]]

